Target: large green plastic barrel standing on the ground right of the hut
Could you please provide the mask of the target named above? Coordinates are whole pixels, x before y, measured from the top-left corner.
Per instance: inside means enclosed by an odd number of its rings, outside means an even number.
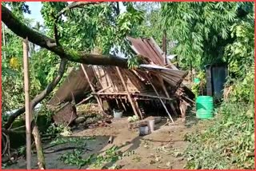
[[[210,96],[198,96],[196,100],[197,117],[209,119],[214,117],[214,98]]]

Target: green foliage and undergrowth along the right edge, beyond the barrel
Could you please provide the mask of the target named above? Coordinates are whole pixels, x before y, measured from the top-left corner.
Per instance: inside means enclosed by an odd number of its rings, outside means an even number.
[[[251,10],[230,27],[234,41],[225,46],[224,56],[230,95],[206,131],[186,137],[191,142],[184,154],[187,169],[254,169],[254,157],[247,157],[254,153],[253,15]]]

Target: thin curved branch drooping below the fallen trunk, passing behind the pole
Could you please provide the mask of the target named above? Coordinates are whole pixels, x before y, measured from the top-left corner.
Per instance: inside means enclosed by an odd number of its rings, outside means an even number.
[[[58,85],[58,82],[60,82],[65,72],[66,63],[67,63],[66,58],[62,58],[62,61],[58,68],[58,75],[53,79],[52,82],[50,82],[49,85],[46,86],[46,89],[44,89],[41,93],[39,93],[36,97],[34,97],[32,101],[30,101],[32,109],[34,109],[34,106],[38,105],[38,103],[41,102],[49,93],[51,93],[52,90],[56,87],[56,85]],[[10,117],[8,118],[8,121],[6,121],[6,124],[3,126],[3,128],[9,129],[11,124],[14,122],[14,120],[24,112],[25,112],[25,107],[22,107],[21,109],[18,109],[17,112],[10,115]]]

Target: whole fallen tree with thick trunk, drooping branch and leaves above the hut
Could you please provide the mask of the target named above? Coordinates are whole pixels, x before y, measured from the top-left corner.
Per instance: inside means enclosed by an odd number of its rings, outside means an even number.
[[[19,4],[19,7],[22,6],[24,4]],[[126,36],[132,33],[133,26],[141,22],[143,18],[142,12],[135,10],[131,3],[126,3],[125,6],[127,11],[119,14],[118,6],[113,2],[73,2],[69,5],[66,2],[43,3],[42,15],[45,19],[46,27],[49,29],[46,34],[54,38],[50,38],[31,29],[30,26],[26,26],[22,20],[14,16],[3,5],[2,22],[19,37],[27,37],[30,42],[57,54],[65,61],[65,64],[67,60],[70,62],[127,68],[127,59],[110,55],[110,48],[120,46],[121,50],[128,57],[131,57],[132,52],[126,49],[126,47],[129,47]],[[25,10],[29,11],[27,8]],[[66,18],[66,22],[63,22],[62,18]],[[102,50],[102,55],[78,51],[90,51],[96,44]],[[56,62],[58,60],[58,58],[49,59],[50,62],[53,62],[53,60]],[[58,76],[56,78],[51,77],[53,81],[49,85],[46,85],[46,89],[32,100],[33,107],[42,101],[54,89],[58,82],[60,82],[64,74],[64,66],[66,65],[60,66]],[[54,73],[56,72],[54,71],[51,74]],[[23,112],[24,108],[18,109],[6,122],[5,128],[8,129],[12,121]]]

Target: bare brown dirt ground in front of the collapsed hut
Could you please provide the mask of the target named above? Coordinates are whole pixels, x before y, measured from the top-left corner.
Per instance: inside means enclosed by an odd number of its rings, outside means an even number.
[[[86,140],[86,147],[92,151],[86,151],[83,157],[89,157],[92,153],[99,155],[110,149],[113,145],[122,146],[122,152],[133,151],[131,155],[122,157],[115,163],[107,164],[120,165],[122,169],[183,169],[186,159],[180,153],[186,149],[187,142],[183,141],[183,136],[198,126],[198,121],[194,117],[187,117],[186,123],[177,119],[174,124],[166,124],[166,121],[155,125],[155,131],[146,136],[138,136],[138,129],[129,130],[127,117],[113,119],[109,127],[97,127],[94,129],[76,130],[73,136],[94,137]],[[112,144],[108,144],[110,136],[114,136]],[[72,144],[68,144],[72,145]],[[64,145],[58,145],[60,148]],[[46,153],[47,169],[78,169],[76,165],[66,165],[58,160],[63,153],[72,149],[57,153]],[[37,157],[33,154],[32,166],[37,169]],[[6,169],[26,169],[26,160],[19,159],[14,165]],[[82,169],[86,169],[82,167]]]

